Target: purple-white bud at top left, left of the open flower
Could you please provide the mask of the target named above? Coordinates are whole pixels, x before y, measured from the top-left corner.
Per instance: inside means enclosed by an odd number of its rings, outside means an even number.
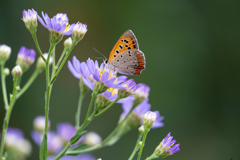
[[[23,22],[27,29],[33,33],[37,31],[37,12],[34,9],[29,9],[28,11],[23,10]]]

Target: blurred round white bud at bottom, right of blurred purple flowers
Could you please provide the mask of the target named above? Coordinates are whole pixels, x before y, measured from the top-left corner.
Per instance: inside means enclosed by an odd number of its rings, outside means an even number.
[[[89,132],[86,134],[84,142],[91,147],[100,144],[102,138],[95,132]]]

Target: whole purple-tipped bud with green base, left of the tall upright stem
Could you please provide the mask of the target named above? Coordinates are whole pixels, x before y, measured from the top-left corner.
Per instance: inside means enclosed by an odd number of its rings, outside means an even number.
[[[35,55],[36,52],[33,49],[22,46],[18,52],[16,64],[20,65],[23,72],[25,72],[35,61]]]

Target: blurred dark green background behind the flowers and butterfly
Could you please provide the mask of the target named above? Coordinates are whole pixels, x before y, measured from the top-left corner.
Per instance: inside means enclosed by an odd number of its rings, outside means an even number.
[[[7,67],[12,69],[21,46],[34,48],[32,37],[22,22],[22,11],[34,8],[40,14],[67,13],[70,23],[88,25],[84,39],[74,48],[80,61],[107,56],[118,38],[131,29],[146,56],[146,70],[132,76],[151,87],[152,110],[165,116],[165,126],[152,130],[143,157],[149,156],[171,132],[181,151],[168,160],[240,159],[240,1],[239,0],[151,0],[151,1],[7,1],[0,5],[0,44],[12,47]],[[48,30],[40,23],[38,40],[48,51]],[[66,38],[66,36],[65,36]],[[63,49],[62,42],[56,51]],[[39,56],[39,54],[37,54]],[[24,84],[35,66],[24,74]],[[12,77],[7,77],[8,93]],[[45,75],[42,73],[14,106],[10,126],[21,128],[31,140],[32,121],[44,114]],[[78,79],[65,65],[53,87],[50,120],[52,129],[59,122],[74,124],[78,102]],[[2,97],[2,92],[0,93]],[[90,92],[84,99],[86,112]],[[4,118],[0,100],[0,124]],[[122,109],[115,105],[88,126],[106,137],[116,126]],[[82,116],[84,118],[84,116]],[[122,137],[113,147],[93,152],[103,160],[125,160],[137,139],[137,129]],[[38,159],[38,147],[31,140],[30,160]]]

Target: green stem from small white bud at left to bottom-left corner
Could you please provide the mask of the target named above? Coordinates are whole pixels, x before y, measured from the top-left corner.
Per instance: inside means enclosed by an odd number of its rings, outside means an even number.
[[[10,104],[9,104],[9,108],[7,108],[6,110],[6,115],[3,121],[3,130],[2,130],[2,139],[1,139],[1,150],[0,150],[0,158],[2,158],[3,155],[3,150],[4,150],[4,141],[5,141],[5,135],[8,129],[8,124],[9,124],[9,119],[11,116],[11,112],[12,112],[12,108],[13,108],[13,104],[15,101],[15,97],[16,97],[16,92],[17,92],[17,78],[13,79],[13,93],[12,93],[12,97],[10,98]]]

